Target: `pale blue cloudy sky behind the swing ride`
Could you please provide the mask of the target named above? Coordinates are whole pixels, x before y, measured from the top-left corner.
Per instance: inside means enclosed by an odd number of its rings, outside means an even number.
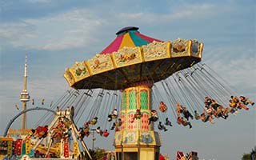
[[[65,69],[101,52],[124,26],[164,41],[197,38],[205,44],[202,62],[256,101],[255,6],[250,0],[1,0],[0,134],[18,114],[15,104],[21,106],[26,52],[30,96],[51,102],[69,89]],[[197,150],[200,158],[239,159],[256,145],[255,108],[238,115],[207,128],[195,123],[192,131],[176,126],[162,134],[162,153],[174,158],[176,150]]]

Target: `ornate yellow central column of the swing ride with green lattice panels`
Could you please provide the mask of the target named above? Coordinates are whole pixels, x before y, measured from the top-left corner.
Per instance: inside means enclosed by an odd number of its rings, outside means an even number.
[[[115,152],[118,160],[158,160],[160,136],[149,125],[151,88],[153,82],[139,82],[122,91],[122,126],[115,134]],[[142,117],[134,119],[136,110]]]

